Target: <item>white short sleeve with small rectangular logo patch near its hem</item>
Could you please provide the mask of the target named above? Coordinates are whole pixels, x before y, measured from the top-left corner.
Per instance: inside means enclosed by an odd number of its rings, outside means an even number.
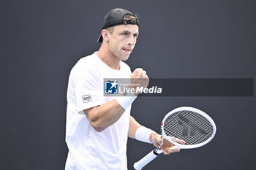
[[[96,107],[105,103],[103,96],[103,79],[99,72],[89,69],[78,69],[72,74],[75,86],[75,98],[79,114],[84,109]]]

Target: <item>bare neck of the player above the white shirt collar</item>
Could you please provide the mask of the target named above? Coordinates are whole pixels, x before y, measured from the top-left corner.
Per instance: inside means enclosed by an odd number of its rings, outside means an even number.
[[[110,68],[119,70],[120,69],[120,59],[116,58],[115,55],[103,45],[99,48],[99,51],[97,53],[99,58]]]

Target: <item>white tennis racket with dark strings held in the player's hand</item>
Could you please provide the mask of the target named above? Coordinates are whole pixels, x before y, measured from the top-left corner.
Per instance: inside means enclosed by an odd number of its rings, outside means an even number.
[[[162,138],[175,145],[170,147],[171,149],[192,149],[202,147],[210,142],[216,134],[216,125],[214,120],[200,109],[178,107],[165,115],[161,124],[161,134]],[[177,143],[176,138],[184,140],[186,143]],[[143,169],[162,152],[160,147],[157,147],[136,162],[134,168],[136,170]]]

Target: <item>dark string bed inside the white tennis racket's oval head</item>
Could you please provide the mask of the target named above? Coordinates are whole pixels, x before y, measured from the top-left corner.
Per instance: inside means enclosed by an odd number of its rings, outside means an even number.
[[[189,110],[173,113],[164,122],[166,136],[184,140],[184,145],[200,144],[211,137],[214,132],[211,123],[202,115]]]

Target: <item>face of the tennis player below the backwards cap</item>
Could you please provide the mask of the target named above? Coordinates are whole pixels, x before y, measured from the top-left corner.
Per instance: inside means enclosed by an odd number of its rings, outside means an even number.
[[[115,26],[112,34],[109,34],[109,49],[121,61],[126,61],[129,58],[135,47],[139,27],[137,25],[128,24]]]

